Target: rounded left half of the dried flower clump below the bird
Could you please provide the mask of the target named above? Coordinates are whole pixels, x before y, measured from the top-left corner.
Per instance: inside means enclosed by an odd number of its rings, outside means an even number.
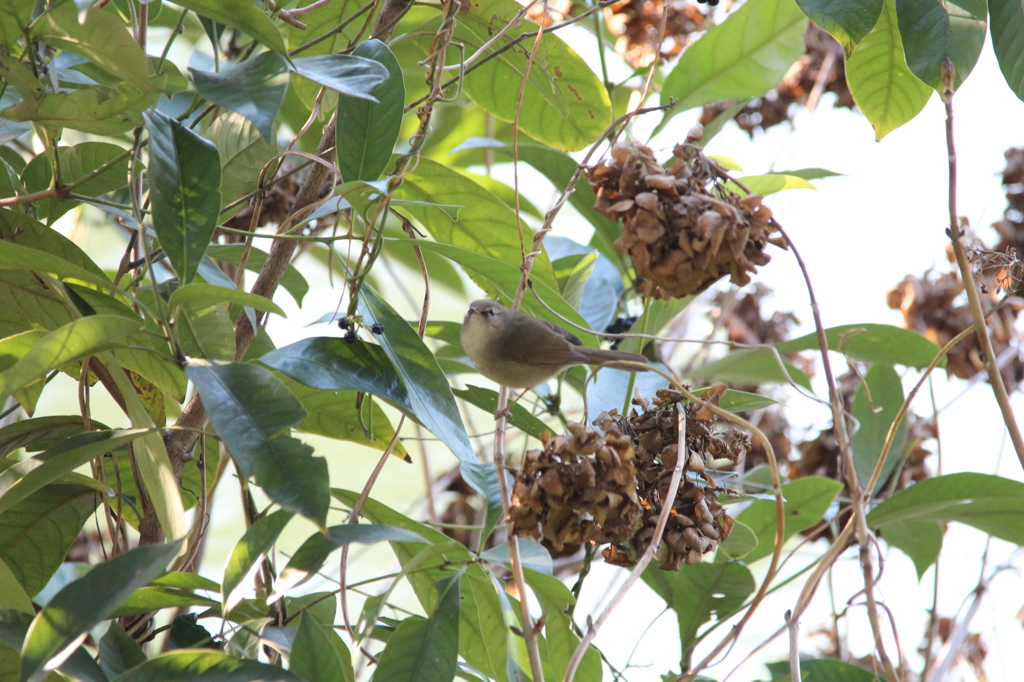
[[[526,453],[516,472],[509,516],[516,535],[569,543],[615,542],[633,534],[640,505],[635,455],[616,430],[604,436],[583,424]]]

